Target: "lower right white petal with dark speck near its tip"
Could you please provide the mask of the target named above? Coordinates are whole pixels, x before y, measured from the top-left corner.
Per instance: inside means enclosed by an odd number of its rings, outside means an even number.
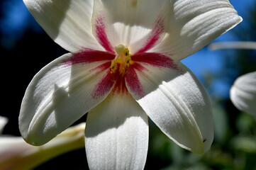
[[[211,103],[204,86],[180,62],[173,69],[152,67],[137,71],[144,96],[128,90],[152,121],[179,146],[204,153],[213,142]]]

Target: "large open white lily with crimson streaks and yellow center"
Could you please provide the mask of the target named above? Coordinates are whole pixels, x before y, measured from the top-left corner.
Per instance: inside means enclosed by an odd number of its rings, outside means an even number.
[[[19,125],[28,143],[43,145],[88,112],[90,169],[143,169],[148,116],[185,149],[211,147],[211,103],[179,60],[242,21],[228,0],[24,2],[70,52],[26,90]]]

